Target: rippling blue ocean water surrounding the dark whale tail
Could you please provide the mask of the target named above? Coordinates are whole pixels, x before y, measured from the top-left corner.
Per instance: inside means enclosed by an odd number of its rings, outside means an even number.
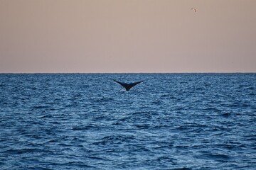
[[[0,74],[0,169],[256,169],[255,95],[256,74]]]

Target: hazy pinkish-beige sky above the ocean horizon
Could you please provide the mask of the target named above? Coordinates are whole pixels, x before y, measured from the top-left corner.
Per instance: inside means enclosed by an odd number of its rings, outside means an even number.
[[[255,6],[0,0],[0,73],[256,72]]]

